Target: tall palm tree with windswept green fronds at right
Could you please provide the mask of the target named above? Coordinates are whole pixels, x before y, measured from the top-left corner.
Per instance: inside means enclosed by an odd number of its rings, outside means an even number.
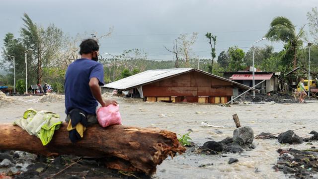
[[[270,23],[270,28],[265,34],[265,37],[271,41],[282,41],[286,43],[284,54],[290,51],[293,53],[294,69],[297,67],[298,47],[303,43],[301,38],[304,35],[304,26],[296,33],[296,26],[288,18],[277,16]]]

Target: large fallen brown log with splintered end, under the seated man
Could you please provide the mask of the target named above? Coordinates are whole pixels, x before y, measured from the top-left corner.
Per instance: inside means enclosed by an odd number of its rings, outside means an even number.
[[[76,156],[103,157],[108,168],[143,172],[156,172],[157,165],[168,156],[182,154],[185,148],[176,134],[156,128],[137,128],[113,125],[102,128],[94,125],[84,133],[79,142],[69,140],[67,124],[56,130],[52,141],[43,146],[36,136],[12,124],[0,124],[0,150],[19,150],[46,156],[72,154]]]

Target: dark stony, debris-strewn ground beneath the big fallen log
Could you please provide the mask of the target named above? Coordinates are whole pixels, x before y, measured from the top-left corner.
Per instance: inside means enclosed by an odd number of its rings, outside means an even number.
[[[2,177],[5,176],[6,179],[136,179],[136,177],[140,179],[150,178],[145,174],[127,173],[106,169],[104,167],[103,160],[96,158],[79,158],[71,155],[63,155],[57,158],[47,158],[45,156],[37,156],[20,151],[2,151],[0,153],[0,156],[1,155],[9,157],[9,161],[11,161],[12,163],[12,165],[9,167],[0,168]]]

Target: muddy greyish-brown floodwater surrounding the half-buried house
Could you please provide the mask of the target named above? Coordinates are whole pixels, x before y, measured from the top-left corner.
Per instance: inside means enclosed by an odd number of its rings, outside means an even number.
[[[32,107],[37,110],[51,110],[60,114],[64,120],[64,101],[60,98],[49,102],[39,101],[40,96],[15,96],[15,102],[0,106],[0,123],[10,123],[22,116],[23,111]],[[52,98],[52,97],[51,97]],[[215,104],[143,102],[139,99],[112,97],[119,102],[124,125],[138,127],[158,127],[185,134],[188,129],[192,141],[201,146],[209,140],[220,141],[232,137],[235,124],[232,115],[237,113],[241,125],[250,126],[254,135],[261,132],[295,131],[301,137],[310,136],[312,130],[318,131],[318,101],[306,104],[235,104],[222,107]],[[203,127],[201,122],[221,125],[225,128]],[[217,134],[216,130],[222,131]],[[308,149],[306,142],[300,145],[283,145],[277,140],[254,140],[256,149],[241,154],[207,156],[187,151],[183,155],[167,158],[157,167],[154,179],[283,179],[288,178],[282,172],[275,172],[272,167],[277,162],[279,148]],[[312,142],[318,147],[318,142]],[[229,158],[239,159],[229,165]],[[199,167],[213,164],[208,167]],[[317,176],[316,176],[317,177]]]

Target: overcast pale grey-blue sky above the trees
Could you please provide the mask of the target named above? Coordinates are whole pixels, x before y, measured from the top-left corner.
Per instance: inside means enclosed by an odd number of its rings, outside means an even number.
[[[246,52],[275,16],[286,16],[299,29],[315,6],[318,0],[1,0],[0,47],[7,32],[19,36],[26,12],[33,22],[54,23],[68,36],[98,36],[114,26],[111,37],[100,40],[100,52],[113,55],[139,48],[149,59],[172,59],[163,45],[172,47],[179,34],[198,32],[194,56],[210,58],[207,32],[217,35],[217,55],[235,45]],[[257,46],[265,44],[282,49],[282,43],[267,40]]]

